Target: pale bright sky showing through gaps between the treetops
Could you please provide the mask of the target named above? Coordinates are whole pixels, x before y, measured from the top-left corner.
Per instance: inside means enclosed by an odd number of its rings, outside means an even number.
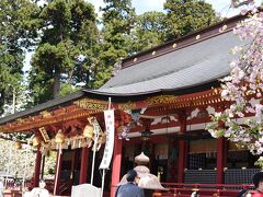
[[[103,0],[87,0],[87,1],[91,2],[95,7],[98,13],[99,8],[104,5]],[[205,0],[205,1],[211,3],[216,12],[220,13],[222,18],[227,16],[229,18],[239,13],[239,10],[237,9],[229,9],[230,0]],[[262,0],[255,0],[256,4],[260,4],[261,1]],[[163,11],[162,8],[164,2],[165,0],[132,0],[132,3],[135,7],[137,14],[141,14],[147,11]],[[30,68],[31,56],[32,53],[26,54],[24,71],[28,70]]]

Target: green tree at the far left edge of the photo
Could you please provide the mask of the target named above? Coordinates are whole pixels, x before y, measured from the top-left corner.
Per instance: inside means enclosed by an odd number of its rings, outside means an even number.
[[[38,24],[36,3],[30,0],[0,1],[0,115],[21,91],[25,49],[32,45]]]

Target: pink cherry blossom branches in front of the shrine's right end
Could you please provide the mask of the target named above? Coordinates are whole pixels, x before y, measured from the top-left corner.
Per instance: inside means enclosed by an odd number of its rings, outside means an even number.
[[[248,13],[247,13],[248,12]],[[253,154],[263,153],[263,12],[250,7],[241,13],[248,18],[240,22],[233,34],[240,38],[230,62],[231,72],[221,80],[221,97],[229,103],[216,113],[207,127],[213,137],[226,137]],[[261,158],[263,161],[263,158]]]

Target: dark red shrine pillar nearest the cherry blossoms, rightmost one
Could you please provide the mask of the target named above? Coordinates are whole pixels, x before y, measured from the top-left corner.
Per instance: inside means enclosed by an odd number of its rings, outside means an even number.
[[[217,140],[217,184],[224,183],[224,167],[227,165],[227,140],[221,137]]]

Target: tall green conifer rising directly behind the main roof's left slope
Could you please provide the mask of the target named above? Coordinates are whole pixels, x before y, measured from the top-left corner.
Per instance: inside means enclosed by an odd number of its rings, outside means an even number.
[[[95,69],[94,88],[100,88],[111,77],[116,62],[128,55],[132,48],[130,32],[135,23],[135,9],[130,0],[104,0],[101,9],[102,25],[100,36],[100,65]]]

